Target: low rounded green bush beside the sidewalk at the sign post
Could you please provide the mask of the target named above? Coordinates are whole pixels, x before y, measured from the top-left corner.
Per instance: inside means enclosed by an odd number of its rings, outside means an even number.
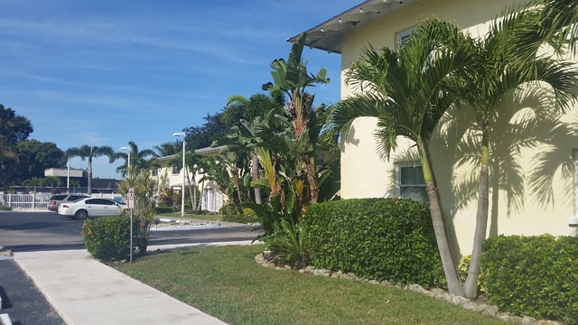
[[[138,246],[138,224],[133,225],[133,246]],[[121,261],[130,255],[130,217],[87,219],[82,225],[84,246],[103,262]]]

